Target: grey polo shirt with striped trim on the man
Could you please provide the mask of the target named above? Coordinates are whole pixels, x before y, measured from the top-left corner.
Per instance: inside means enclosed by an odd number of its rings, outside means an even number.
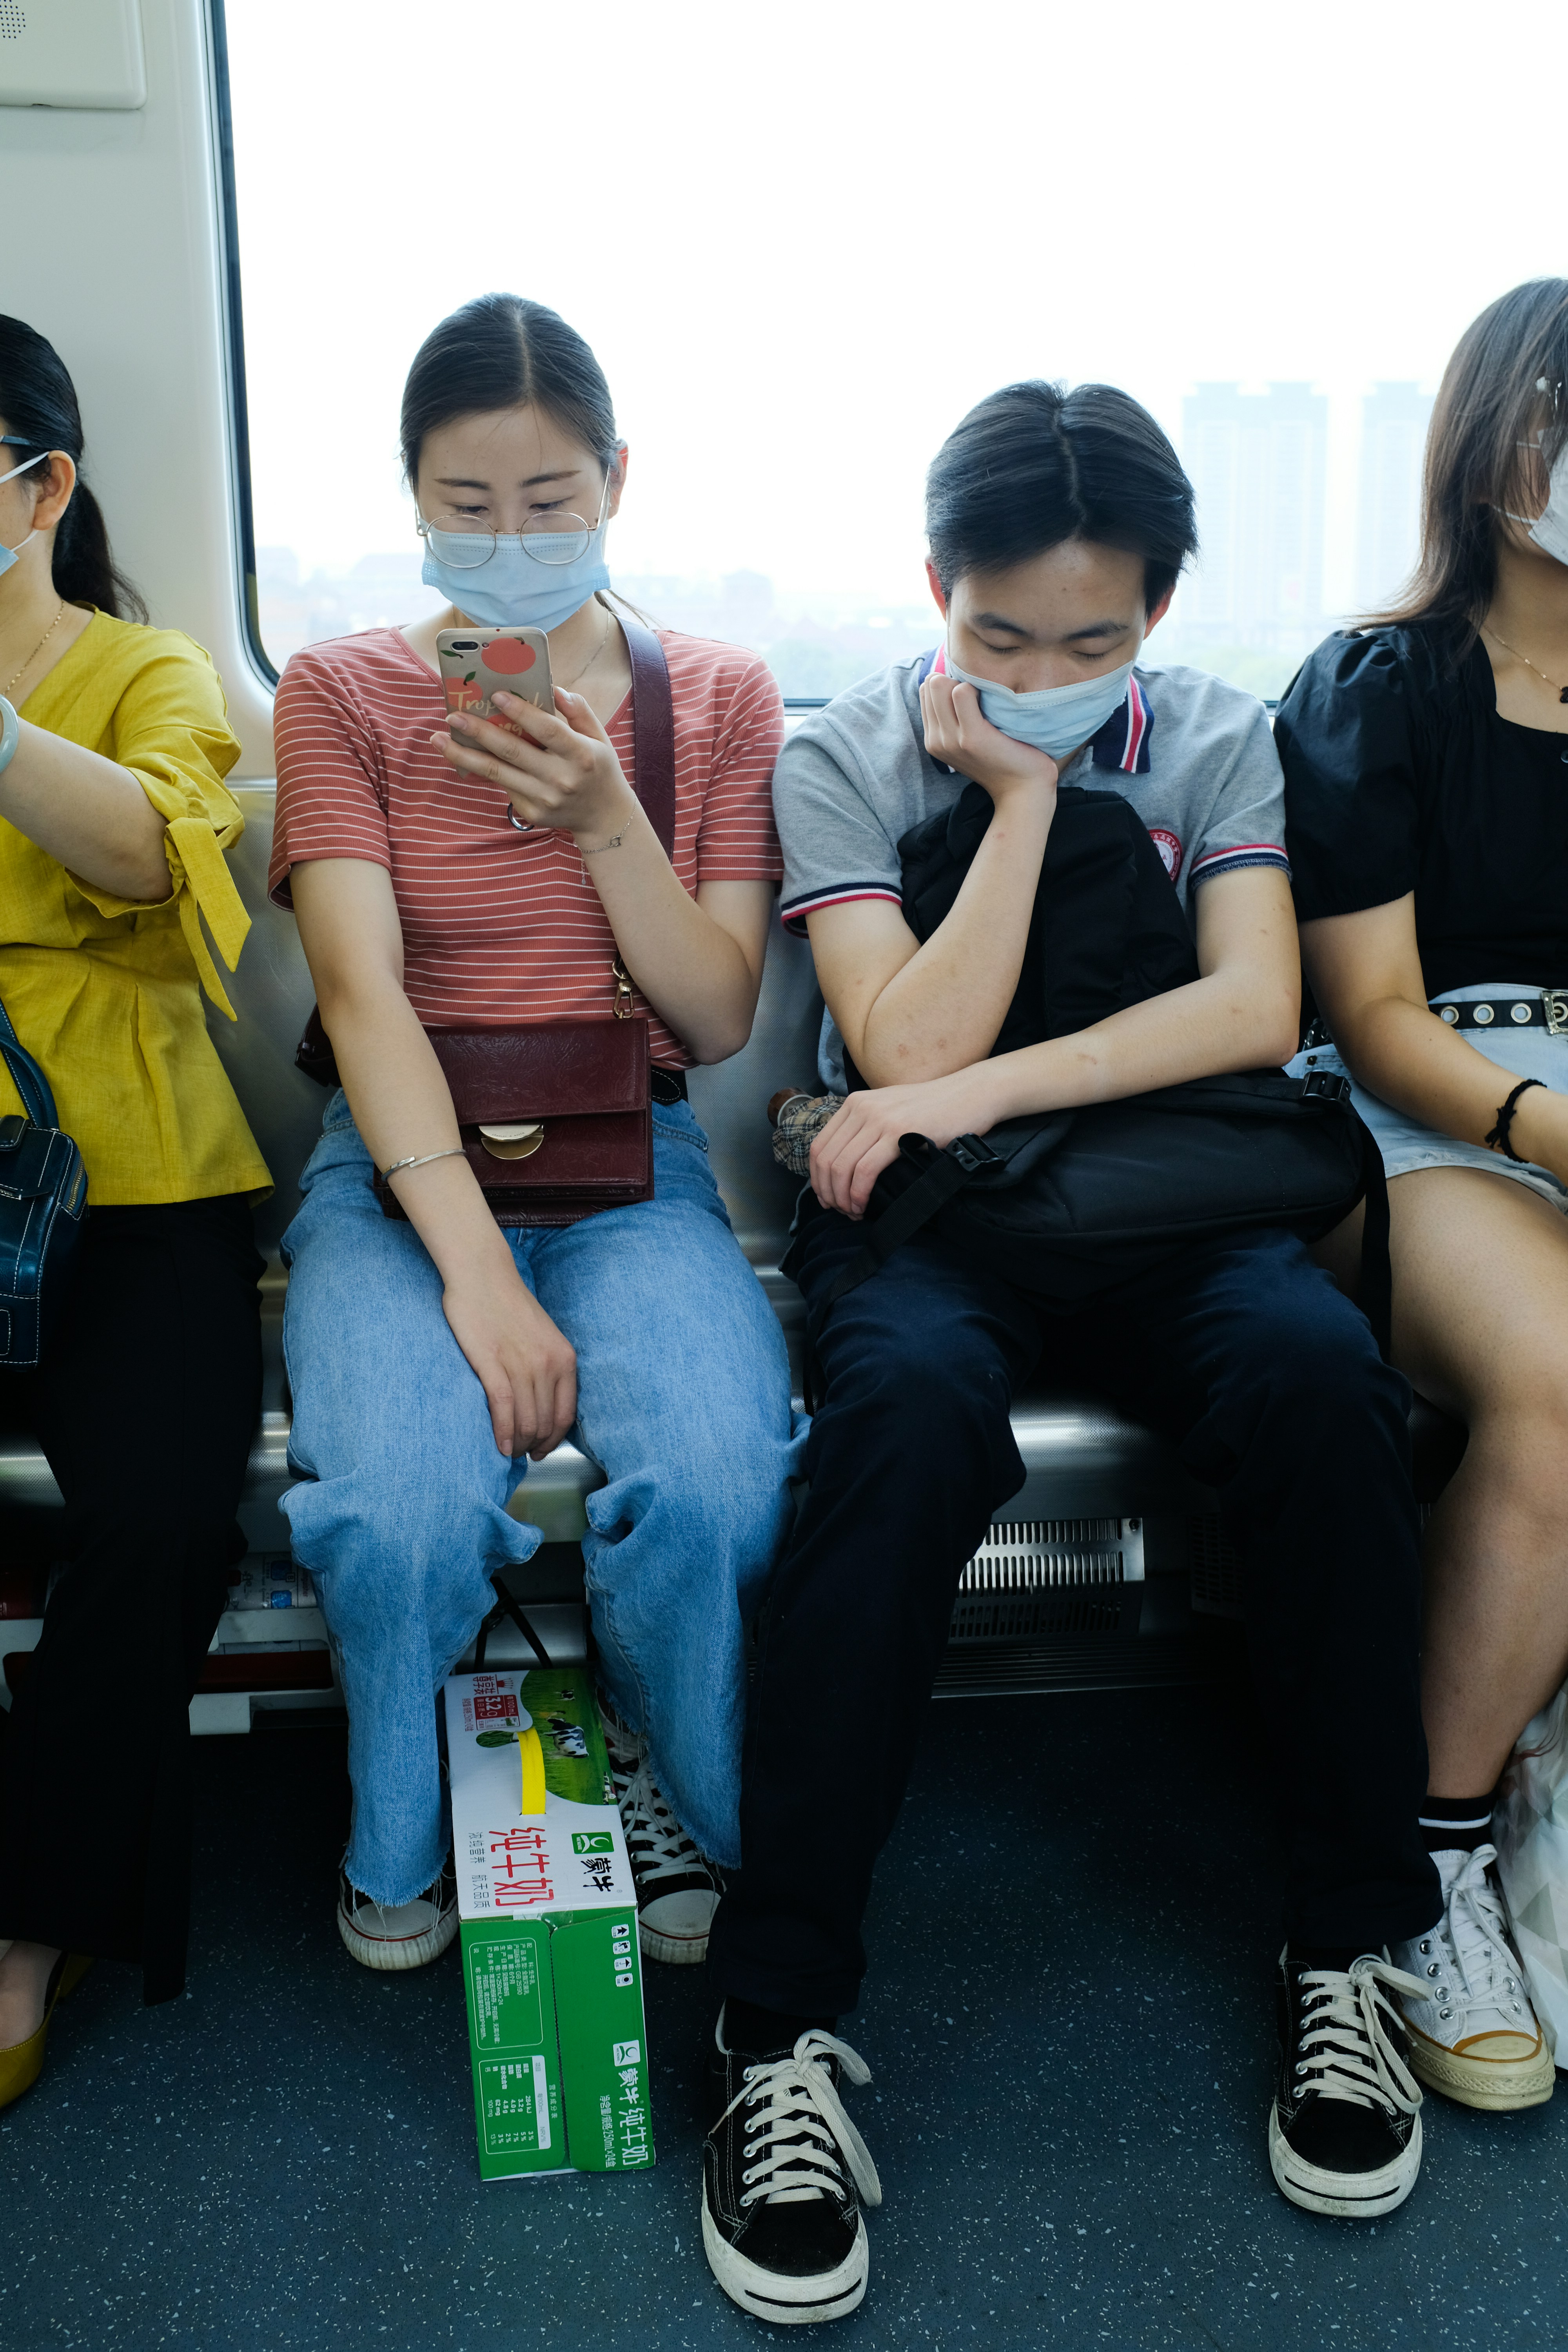
[[[813,710],[773,769],[785,854],[783,920],[853,898],[891,898],[898,842],[950,809],[966,779],[924,746],[919,684],[931,654],[898,661]],[[1135,668],[1126,701],[1063,783],[1126,793],[1166,861],[1180,903],[1215,875],[1272,866],[1288,877],[1284,776],[1262,703],[1208,670]],[[844,1087],[844,1040],[823,1018],[820,1075]]]

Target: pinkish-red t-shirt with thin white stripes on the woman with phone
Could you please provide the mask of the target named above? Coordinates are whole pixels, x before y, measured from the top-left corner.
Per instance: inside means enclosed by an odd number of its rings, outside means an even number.
[[[757,654],[661,630],[675,703],[675,873],[778,882],[771,779],[783,701]],[[397,894],[404,988],[433,1028],[607,1014],[616,941],[569,833],[517,833],[505,795],[447,767],[430,734],[440,677],[395,628],[308,644],[277,687],[277,821],[270,894],[289,868],[369,858]],[[632,699],[607,727],[632,776]],[[654,1061],[691,1054],[644,997]]]

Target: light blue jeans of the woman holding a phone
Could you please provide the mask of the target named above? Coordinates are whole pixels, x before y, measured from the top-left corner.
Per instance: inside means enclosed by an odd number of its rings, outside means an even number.
[[[348,1698],[348,1877],[409,1903],[447,1853],[433,1696],[494,1606],[491,1573],[541,1531],[508,1515],[527,1458],[496,1451],[442,1277],[414,1228],[381,1214],[343,1094],[301,1192],[282,1251],[303,1484],[282,1508]],[[804,1446],[783,1334],[686,1103],[654,1110],[651,1202],[508,1240],[576,1348],[574,1437],[609,1479],[583,1538],[604,1691],[646,1736],[682,1825],[733,1865],[745,1625]]]

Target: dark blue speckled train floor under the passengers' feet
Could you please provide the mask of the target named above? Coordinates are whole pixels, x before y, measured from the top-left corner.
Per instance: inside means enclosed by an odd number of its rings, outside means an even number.
[[[762,2345],[701,2256],[701,1973],[649,1971],[654,2173],[480,2187],[456,1955],[388,1980],[336,1938],[341,1736],[197,1755],[186,1999],[143,2011],[129,1971],[96,1969],[0,2114],[7,2352]],[[802,2338],[1568,2340],[1568,2093],[1502,2119],[1429,2100],[1422,2180],[1382,2225],[1274,2192],[1260,1778],[1225,1689],[933,1710],[851,2027],[886,2190],[872,2291]]]

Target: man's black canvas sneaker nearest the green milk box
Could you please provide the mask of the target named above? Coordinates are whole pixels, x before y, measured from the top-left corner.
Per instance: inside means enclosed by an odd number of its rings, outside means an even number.
[[[870,2082],[849,2042],[811,2027],[755,2056],[712,2032],[712,2124],[703,2147],[703,2249],[743,2312],[783,2326],[842,2319],[865,2296],[860,2199],[882,2204],[839,2082]]]

